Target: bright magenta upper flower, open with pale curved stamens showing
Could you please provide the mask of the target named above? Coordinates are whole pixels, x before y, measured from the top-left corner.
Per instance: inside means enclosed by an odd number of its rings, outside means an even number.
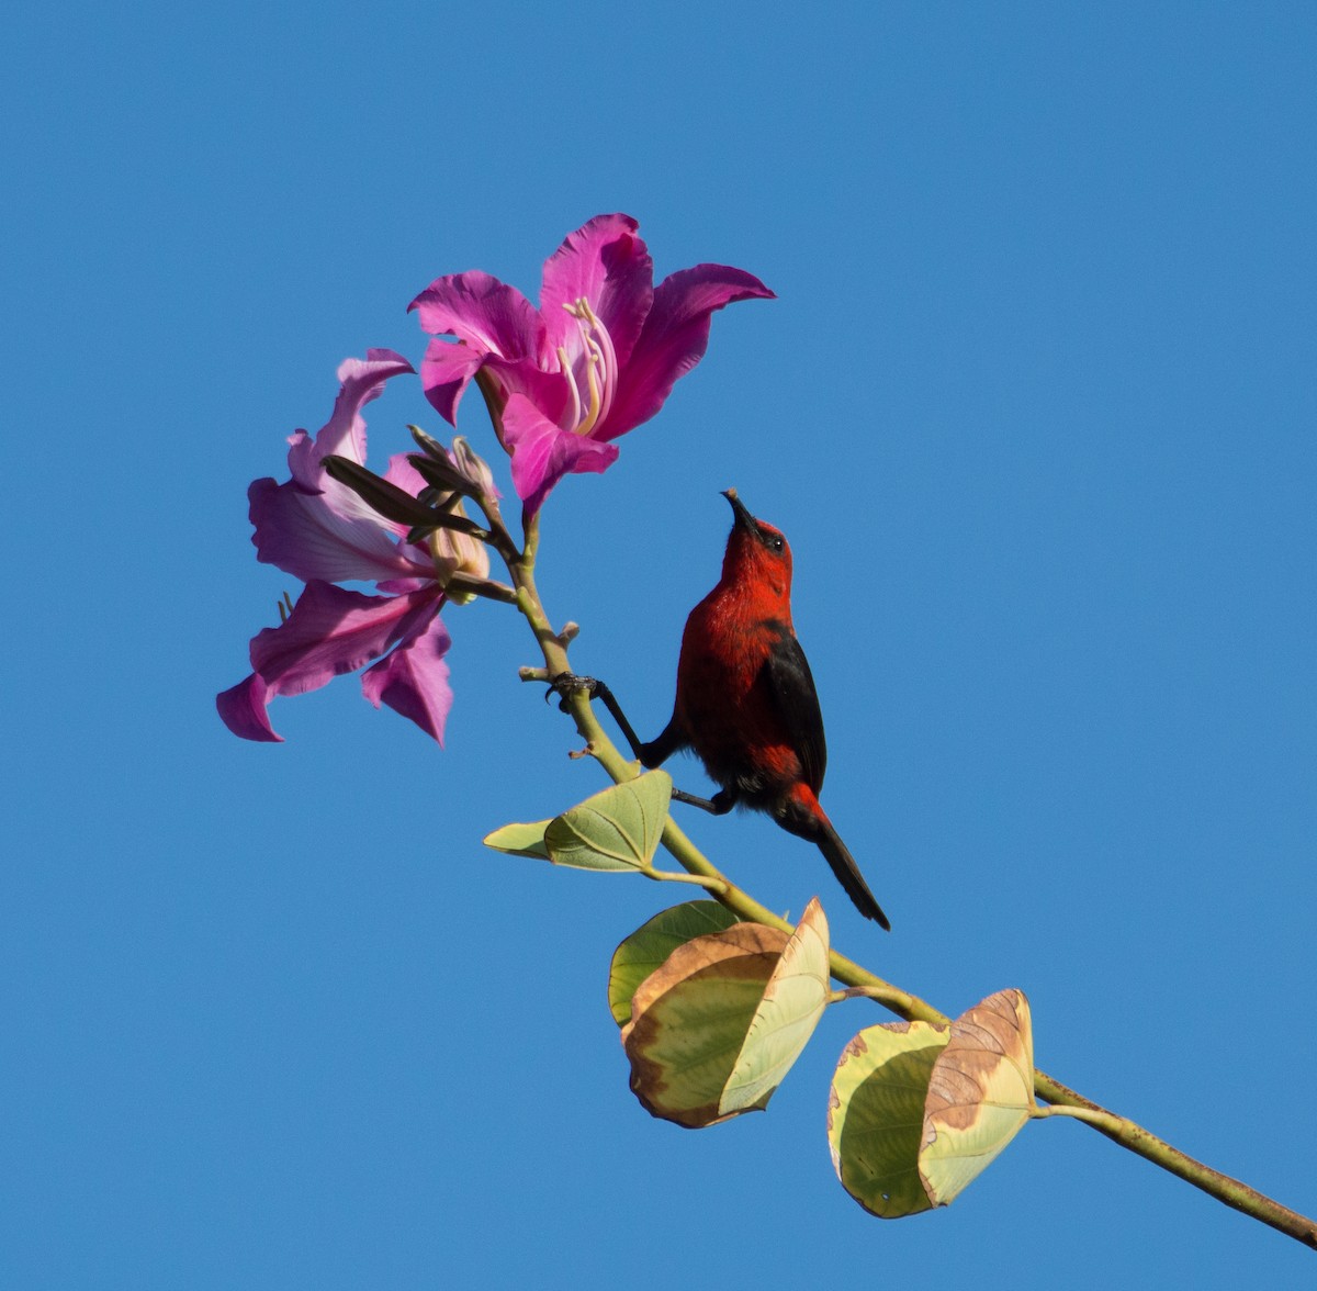
[[[479,270],[436,278],[411,303],[433,333],[427,398],[456,426],[471,378],[491,378],[512,483],[531,514],[565,474],[616,461],[612,440],[652,418],[703,357],[715,310],[773,296],[726,265],[695,265],[655,287],[637,227],[599,215],[569,233],[545,261],[539,310]]]

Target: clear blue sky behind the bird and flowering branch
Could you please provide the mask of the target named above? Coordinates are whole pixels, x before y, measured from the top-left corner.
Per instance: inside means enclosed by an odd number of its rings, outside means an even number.
[[[780,524],[896,931],[764,819],[691,834],[947,1010],[1023,988],[1040,1066],[1313,1213],[1314,58],[1306,3],[11,17],[0,1282],[1310,1284],[1073,1124],[871,1219],[823,1136],[864,1004],[766,1116],[651,1120],[605,976],[669,893],[479,846],[602,784],[511,613],[449,615],[443,752],[352,680],[277,747],[212,698],[290,585],[246,483],[337,362],[627,211],[780,300],[558,489],[543,591],[653,732],[718,490]]]

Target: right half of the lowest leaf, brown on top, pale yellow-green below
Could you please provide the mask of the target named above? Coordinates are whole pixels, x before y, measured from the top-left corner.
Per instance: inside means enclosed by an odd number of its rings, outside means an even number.
[[[998,991],[951,1024],[925,1105],[919,1174],[934,1205],[954,1201],[1034,1109],[1029,1000]]]

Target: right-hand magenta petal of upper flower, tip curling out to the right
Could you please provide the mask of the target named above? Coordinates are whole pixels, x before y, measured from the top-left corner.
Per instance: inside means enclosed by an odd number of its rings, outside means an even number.
[[[753,274],[727,265],[695,265],[655,290],[644,331],[622,369],[607,423],[594,433],[612,440],[648,422],[709,348],[711,315],[738,300],[776,299]]]

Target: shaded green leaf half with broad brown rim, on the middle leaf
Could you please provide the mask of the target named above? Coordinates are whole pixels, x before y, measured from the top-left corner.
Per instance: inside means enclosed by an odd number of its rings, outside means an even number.
[[[786,942],[776,927],[734,923],[678,946],[640,984],[622,1043],[653,1116],[698,1129],[751,1111],[724,1112],[723,1091]]]

